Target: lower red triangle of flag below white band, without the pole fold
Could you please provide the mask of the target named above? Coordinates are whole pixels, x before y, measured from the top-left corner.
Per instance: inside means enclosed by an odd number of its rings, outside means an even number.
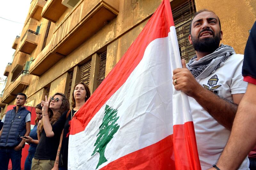
[[[101,170],[109,169],[175,169],[172,135],[108,163]]]

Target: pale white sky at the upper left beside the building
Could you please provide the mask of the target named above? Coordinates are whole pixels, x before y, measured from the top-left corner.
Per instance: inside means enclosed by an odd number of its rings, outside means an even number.
[[[4,70],[8,63],[12,63],[12,43],[17,35],[20,36],[24,26],[28,9],[32,0],[7,0],[0,5],[0,77],[5,78]],[[12,21],[8,21],[5,19]],[[19,22],[19,23],[16,23]]]

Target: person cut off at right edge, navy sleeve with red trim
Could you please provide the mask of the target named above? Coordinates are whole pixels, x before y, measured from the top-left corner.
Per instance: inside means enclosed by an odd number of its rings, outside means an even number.
[[[248,82],[246,93],[242,98],[232,131],[216,167],[220,170],[233,170],[243,162],[249,154],[250,169],[256,169],[256,21],[252,26],[244,50],[242,74],[244,81]],[[217,168],[211,168],[216,170]]]

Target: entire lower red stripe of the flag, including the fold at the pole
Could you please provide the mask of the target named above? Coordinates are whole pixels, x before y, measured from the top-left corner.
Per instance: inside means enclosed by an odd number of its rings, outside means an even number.
[[[101,170],[109,169],[177,169],[201,170],[193,122],[174,125],[173,132],[161,141],[118,158]],[[185,135],[185,142],[184,136]],[[186,143],[186,145],[184,145]]]

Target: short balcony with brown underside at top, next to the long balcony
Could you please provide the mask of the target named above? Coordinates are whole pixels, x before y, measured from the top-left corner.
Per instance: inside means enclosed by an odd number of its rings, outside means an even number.
[[[66,9],[67,7],[61,4],[61,0],[48,0],[41,16],[55,23]]]

